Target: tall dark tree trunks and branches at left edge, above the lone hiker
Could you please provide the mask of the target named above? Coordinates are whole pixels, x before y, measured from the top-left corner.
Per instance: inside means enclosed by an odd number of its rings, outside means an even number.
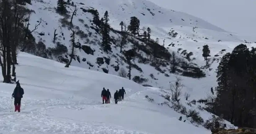
[[[30,0],[25,0],[30,2]],[[3,82],[16,81],[18,46],[27,44],[31,31],[24,25],[30,11],[23,8],[24,0],[0,1],[0,65]],[[23,35],[23,36],[22,36]],[[12,78],[13,77],[13,78]]]

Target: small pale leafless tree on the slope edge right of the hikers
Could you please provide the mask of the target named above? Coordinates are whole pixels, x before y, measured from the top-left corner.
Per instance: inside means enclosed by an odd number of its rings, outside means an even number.
[[[171,83],[171,82],[170,82]],[[180,96],[181,96],[181,89],[184,87],[184,85],[181,83],[181,78],[176,77],[175,83],[171,83],[171,99],[173,101],[177,101],[179,103]]]

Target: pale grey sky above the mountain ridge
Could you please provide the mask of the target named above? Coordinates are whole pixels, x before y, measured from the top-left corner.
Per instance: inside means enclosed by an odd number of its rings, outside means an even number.
[[[256,36],[256,0],[148,0],[202,18],[226,31]]]

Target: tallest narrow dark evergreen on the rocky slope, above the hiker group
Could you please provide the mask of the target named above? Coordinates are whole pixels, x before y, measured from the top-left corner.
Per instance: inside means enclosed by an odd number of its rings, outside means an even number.
[[[105,52],[111,51],[111,46],[110,46],[110,36],[109,36],[109,31],[110,31],[110,26],[109,26],[109,15],[108,11],[105,12],[103,16],[103,23],[101,27],[102,31],[102,46],[103,50]]]

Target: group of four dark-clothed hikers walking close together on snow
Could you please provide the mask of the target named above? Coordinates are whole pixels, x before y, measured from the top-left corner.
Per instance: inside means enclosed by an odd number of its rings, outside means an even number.
[[[122,89],[116,90],[116,93],[114,94],[115,103],[117,104],[118,101],[124,100],[124,94],[126,94],[124,87]],[[101,97],[102,97],[102,103],[104,104],[104,101],[106,104],[110,103],[111,93],[109,89],[103,88],[101,91]]]

